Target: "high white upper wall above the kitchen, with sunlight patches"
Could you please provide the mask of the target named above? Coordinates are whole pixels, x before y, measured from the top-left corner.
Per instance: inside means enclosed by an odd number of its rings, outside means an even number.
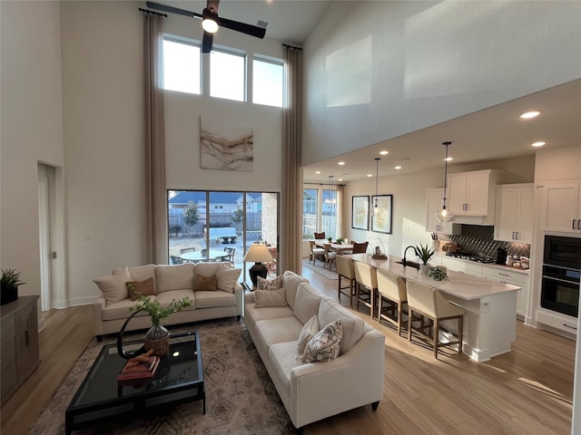
[[[581,77],[579,2],[333,2],[304,44],[303,165]]]

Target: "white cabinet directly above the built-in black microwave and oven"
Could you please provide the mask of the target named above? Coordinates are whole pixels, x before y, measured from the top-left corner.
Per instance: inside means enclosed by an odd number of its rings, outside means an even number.
[[[543,230],[581,234],[580,186],[581,180],[545,183],[541,199]]]

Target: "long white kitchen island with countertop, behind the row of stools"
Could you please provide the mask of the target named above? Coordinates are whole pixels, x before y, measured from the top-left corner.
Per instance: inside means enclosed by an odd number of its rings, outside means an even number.
[[[477,362],[507,353],[516,338],[516,285],[497,283],[468,274],[448,271],[448,281],[434,281],[419,270],[397,263],[399,257],[377,260],[369,254],[346,255],[355,261],[413,279],[437,288],[442,295],[466,309],[462,336],[462,351]],[[453,329],[450,326],[450,329]],[[455,330],[454,330],[455,331]]]

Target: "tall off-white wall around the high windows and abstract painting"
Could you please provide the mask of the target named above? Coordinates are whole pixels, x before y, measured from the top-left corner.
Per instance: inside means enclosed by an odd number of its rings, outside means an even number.
[[[143,2],[62,5],[70,304],[89,303],[99,294],[95,277],[144,261],[140,6]],[[163,20],[163,28],[198,40],[202,36],[197,22],[175,14]],[[281,43],[227,29],[214,43],[282,57]],[[201,115],[253,128],[252,172],[200,169]],[[165,134],[168,189],[281,189],[280,108],[167,92]]]

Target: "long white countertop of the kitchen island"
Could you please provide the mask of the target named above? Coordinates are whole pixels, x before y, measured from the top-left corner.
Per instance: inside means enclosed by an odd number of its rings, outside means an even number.
[[[448,281],[434,281],[429,279],[428,275],[422,275],[419,270],[413,267],[404,267],[399,265],[396,262],[400,261],[401,259],[396,256],[389,256],[387,260],[373,259],[370,254],[350,254],[346,256],[352,258],[355,261],[366,263],[369,266],[388,270],[389,272],[403,276],[406,279],[414,279],[421,283],[431,285],[432,287],[436,287],[438,290],[447,293],[448,295],[454,295],[460,299],[465,299],[468,301],[501,293],[516,292],[517,290],[521,289],[521,287],[517,287],[516,285],[497,283],[496,281],[489,279],[478,278],[477,276],[461,274],[449,270]],[[511,269],[510,267],[501,265],[486,266],[498,266],[504,267],[505,269]]]

